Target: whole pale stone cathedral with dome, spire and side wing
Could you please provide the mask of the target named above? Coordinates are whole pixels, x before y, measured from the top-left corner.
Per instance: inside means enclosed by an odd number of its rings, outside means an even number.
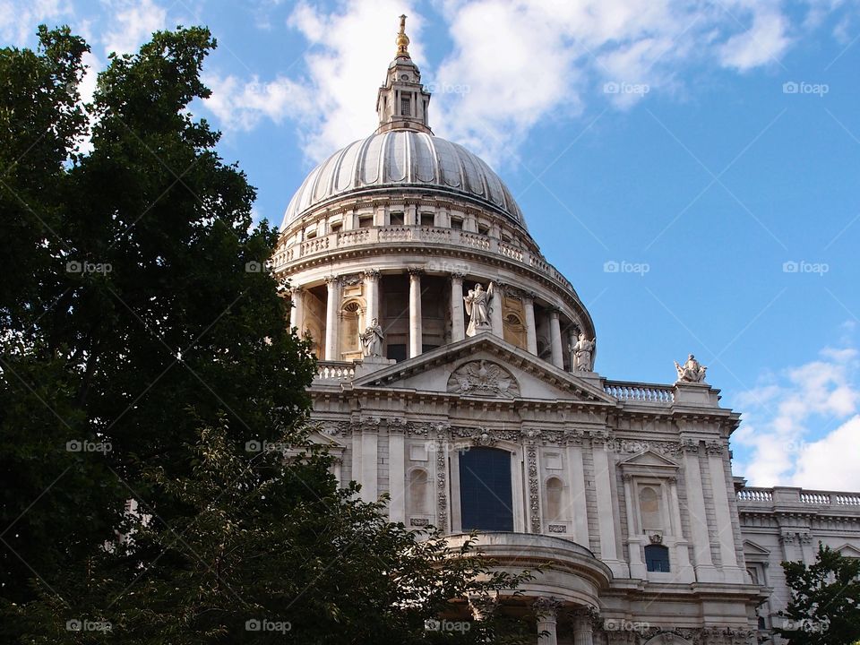
[[[598,374],[589,312],[510,191],[431,131],[404,22],[379,127],[307,176],[273,257],[336,476],[393,521],[477,531],[500,566],[549,563],[464,617],[536,616],[541,645],[778,642],[779,563],[860,556],[860,495],[745,487],[740,415],[692,355],[675,383]]]

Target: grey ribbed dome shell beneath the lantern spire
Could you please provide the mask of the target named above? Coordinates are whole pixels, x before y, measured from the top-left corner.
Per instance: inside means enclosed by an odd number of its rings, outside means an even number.
[[[510,191],[482,159],[456,143],[407,129],[350,143],[314,168],[289,202],[281,228],[350,193],[413,187],[465,197],[526,228]]]

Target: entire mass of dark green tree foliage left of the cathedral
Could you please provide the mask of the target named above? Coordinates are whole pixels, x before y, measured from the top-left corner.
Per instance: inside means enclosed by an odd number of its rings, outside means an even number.
[[[426,631],[522,576],[387,522],[307,443],[278,231],[189,109],[210,32],[112,56],[86,106],[89,47],[39,41],[0,49],[0,640],[516,641]]]

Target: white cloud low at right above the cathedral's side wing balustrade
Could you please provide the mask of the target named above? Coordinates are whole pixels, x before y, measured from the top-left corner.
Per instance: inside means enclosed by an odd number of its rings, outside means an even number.
[[[750,451],[735,470],[752,486],[860,489],[857,350],[824,348],[818,360],[761,381],[735,401],[744,423],[732,441]]]

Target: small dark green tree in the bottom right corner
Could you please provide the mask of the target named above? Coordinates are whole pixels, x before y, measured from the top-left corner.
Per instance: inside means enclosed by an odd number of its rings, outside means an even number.
[[[860,559],[819,545],[815,562],[785,562],[791,600],[775,629],[791,645],[851,645],[860,638]]]

